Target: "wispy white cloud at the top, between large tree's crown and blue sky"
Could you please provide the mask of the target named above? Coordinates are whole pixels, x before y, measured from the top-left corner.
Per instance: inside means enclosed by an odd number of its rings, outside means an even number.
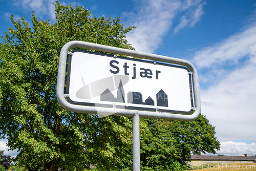
[[[137,4],[135,12],[122,13],[126,25],[137,27],[127,33],[126,38],[137,51],[153,53],[159,48],[163,36],[170,30],[177,17],[181,17],[181,22],[176,27],[175,33],[185,27],[194,26],[203,14],[203,5],[204,2],[201,0],[141,1]]]

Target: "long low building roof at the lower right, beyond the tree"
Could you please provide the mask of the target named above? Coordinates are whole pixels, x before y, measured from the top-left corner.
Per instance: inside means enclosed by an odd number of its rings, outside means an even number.
[[[254,161],[256,156],[195,156],[191,155],[191,160],[244,160]]]

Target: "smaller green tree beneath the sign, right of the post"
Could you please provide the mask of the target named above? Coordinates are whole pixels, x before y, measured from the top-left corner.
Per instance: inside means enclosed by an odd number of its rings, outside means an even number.
[[[215,127],[203,115],[194,121],[140,118],[140,124],[144,125],[140,134],[142,171],[186,170],[186,162],[190,160],[191,153],[216,154],[216,150],[220,149]],[[129,152],[132,158],[132,151]],[[132,163],[126,159],[116,164],[120,170],[132,169]]]

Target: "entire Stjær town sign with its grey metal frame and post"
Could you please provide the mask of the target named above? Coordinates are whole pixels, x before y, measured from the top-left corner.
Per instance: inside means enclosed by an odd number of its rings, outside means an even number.
[[[56,94],[68,111],[133,117],[134,171],[140,169],[140,117],[191,121],[201,112],[198,74],[190,62],[83,41],[62,47]]]

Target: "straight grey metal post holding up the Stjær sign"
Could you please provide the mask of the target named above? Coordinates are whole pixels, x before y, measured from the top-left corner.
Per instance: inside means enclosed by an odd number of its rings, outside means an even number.
[[[140,170],[140,116],[133,116],[133,171]]]

